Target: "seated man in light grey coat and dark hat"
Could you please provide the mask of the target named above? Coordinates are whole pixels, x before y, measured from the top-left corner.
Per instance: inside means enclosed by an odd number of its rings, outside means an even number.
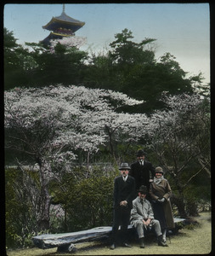
[[[154,218],[150,201],[145,199],[147,188],[142,185],[139,188],[139,195],[133,200],[133,209],[131,212],[131,224],[136,228],[139,235],[140,248],[144,248],[144,231],[154,229],[158,239],[158,245],[167,247],[167,243],[162,239],[161,226]]]

